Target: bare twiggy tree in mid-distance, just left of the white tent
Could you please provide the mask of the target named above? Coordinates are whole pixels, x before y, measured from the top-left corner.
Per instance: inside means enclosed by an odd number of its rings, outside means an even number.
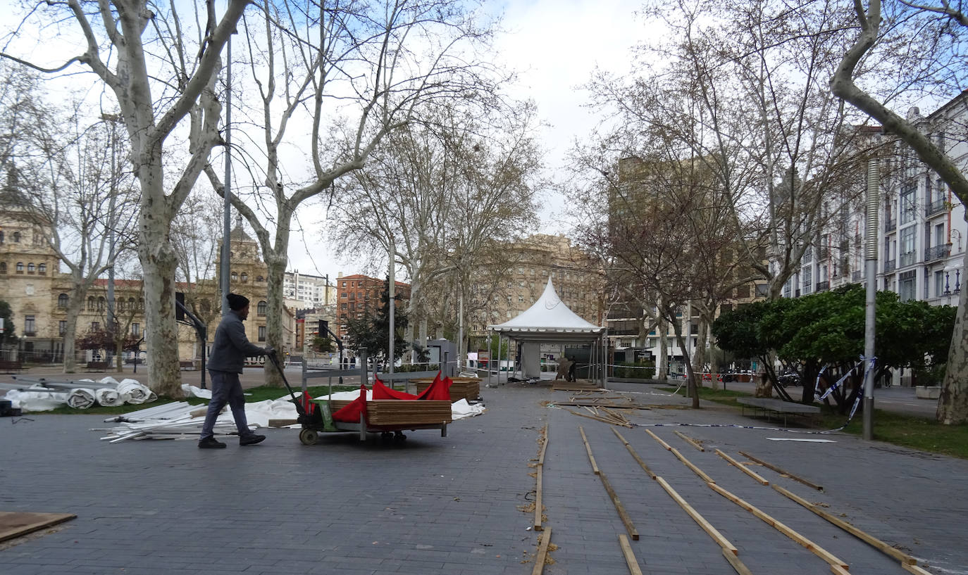
[[[530,106],[488,119],[446,112],[389,137],[330,211],[342,247],[385,254],[392,241],[410,281],[411,342],[414,324],[425,341],[428,323],[450,324],[461,301],[469,325],[513,264],[506,244],[534,219],[540,155]]]

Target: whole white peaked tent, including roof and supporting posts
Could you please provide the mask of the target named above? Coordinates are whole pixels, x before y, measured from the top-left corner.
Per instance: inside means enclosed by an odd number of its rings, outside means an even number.
[[[528,309],[503,324],[488,326],[499,336],[522,344],[522,371],[526,377],[540,373],[540,345],[542,343],[591,343],[591,362],[598,366],[594,379],[605,386],[605,345],[607,330],[582,319],[561,302],[555,285],[548,277],[544,293]],[[510,347],[510,344],[508,344]],[[500,356],[500,343],[499,354]]]

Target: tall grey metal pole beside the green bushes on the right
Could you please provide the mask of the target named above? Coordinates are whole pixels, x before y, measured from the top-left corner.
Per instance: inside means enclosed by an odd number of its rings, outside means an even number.
[[[880,137],[875,136],[880,143]],[[863,323],[863,439],[874,439],[874,322],[877,297],[877,209],[880,201],[881,169],[876,152],[867,160],[866,226],[864,229],[864,262],[867,294]]]

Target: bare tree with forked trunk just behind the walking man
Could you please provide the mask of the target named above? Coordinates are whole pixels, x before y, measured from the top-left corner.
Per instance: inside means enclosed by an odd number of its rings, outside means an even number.
[[[492,74],[474,53],[491,32],[455,0],[266,1],[261,8],[259,21],[247,19],[244,27],[258,97],[253,123],[261,133],[240,145],[252,159],[249,181],[232,195],[232,205],[252,224],[268,267],[267,339],[281,348],[295,211],[362,168],[387,134],[422,110],[452,99],[492,98]],[[298,164],[285,161],[292,147],[308,152]],[[303,176],[306,165],[310,173]],[[224,193],[214,167],[206,173]],[[262,219],[273,221],[274,237]],[[266,375],[281,385],[275,371],[267,368]]]

